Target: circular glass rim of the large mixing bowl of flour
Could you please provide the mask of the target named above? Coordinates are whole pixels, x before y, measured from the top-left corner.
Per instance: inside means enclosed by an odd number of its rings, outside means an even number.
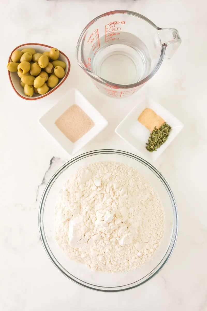
[[[89,156],[94,156],[94,155],[99,155],[99,154],[117,154],[117,155],[121,155],[121,156],[127,156],[127,157],[132,158],[134,160],[137,160],[138,162],[140,162],[143,165],[145,165],[163,183],[163,185],[164,185],[164,187],[165,187],[165,189],[166,189],[166,191],[167,191],[167,193],[168,193],[168,195],[170,197],[170,200],[171,200],[171,203],[172,203],[172,208],[173,208],[173,232],[171,234],[171,240],[170,240],[169,246],[168,246],[168,248],[167,248],[167,250],[166,250],[166,252],[164,254],[164,257],[161,259],[159,264],[151,272],[149,272],[146,276],[142,277],[142,279],[140,279],[138,281],[135,281],[133,283],[125,284],[125,285],[121,285],[121,286],[100,286],[100,285],[94,285],[94,284],[90,284],[90,283],[87,283],[85,281],[82,281],[79,278],[73,276],[64,267],[61,266],[61,264],[57,261],[57,259],[53,255],[53,253],[52,253],[52,251],[51,251],[51,249],[50,249],[50,247],[49,247],[49,245],[47,243],[47,238],[46,238],[46,235],[45,235],[45,232],[44,232],[44,224],[43,224],[44,206],[45,206],[45,202],[46,202],[46,199],[47,199],[47,195],[48,195],[48,193],[50,191],[50,188],[52,187],[53,183],[61,175],[61,173],[65,171],[65,169],[67,169],[69,166],[71,166],[75,162],[77,162],[79,160],[82,160],[84,158],[87,158]],[[76,284],[82,285],[82,286],[84,286],[84,287],[86,287],[88,289],[97,290],[97,291],[101,291],[101,292],[120,292],[120,291],[136,288],[136,287],[146,283],[147,281],[151,280],[151,278],[153,276],[155,276],[158,272],[160,272],[160,270],[164,267],[165,263],[169,260],[171,254],[173,252],[173,249],[175,247],[177,236],[178,236],[178,210],[177,210],[177,205],[176,205],[176,201],[175,201],[173,192],[172,192],[169,184],[164,179],[162,174],[160,174],[160,172],[153,165],[151,165],[149,162],[147,162],[146,160],[142,159],[141,157],[136,156],[133,153],[130,153],[130,152],[127,152],[127,151],[113,150],[113,149],[101,149],[101,150],[94,150],[94,151],[89,151],[89,152],[85,152],[83,154],[80,154],[79,156],[76,156],[76,157],[72,158],[71,160],[69,160],[68,162],[66,162],[64,165],[62,165],[56,171],[56,173],[52,176],[52,178],[47,183],[47,186],[44,189],[44,192],[43,192],[43,195],[42,195],[42,198],[41,198],[41,202],[40,202],[40,206],[39,206],[38,224],[39,224],[39,233],[40,233],[40,237],[41,237],[41,240],[42,240],[42,243],[43,243],[43,247],[44,247],[48,257],[52,261],[52,263],[56,266],[56,268],[62,274],[64,274],[71,281],[74,281]],[[128,286],[128,287],[126,287],[126,286]]]

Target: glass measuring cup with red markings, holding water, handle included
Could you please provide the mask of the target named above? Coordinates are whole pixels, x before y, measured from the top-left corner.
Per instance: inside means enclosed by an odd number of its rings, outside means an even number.
[[[138,91],[181,44],[178,30],[160,28],[145,16],[118,10],[94,18],[76,47],[79,66],[102,93],[123,98]]]

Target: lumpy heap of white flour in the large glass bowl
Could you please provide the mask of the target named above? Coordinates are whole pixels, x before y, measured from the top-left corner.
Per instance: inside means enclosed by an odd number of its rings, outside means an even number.
[[[164,234],[155,189],[137,170],[98,162],[76,171],[55,207],[55,239],[94,271],[124,272],[148,261]]]

